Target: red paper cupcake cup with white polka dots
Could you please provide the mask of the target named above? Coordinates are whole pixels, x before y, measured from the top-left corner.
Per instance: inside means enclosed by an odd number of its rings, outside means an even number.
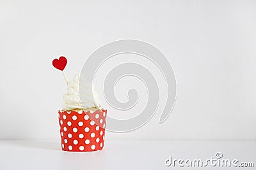
[[[107,110],[58,111],[61,148],[69,152],[102,150]]]

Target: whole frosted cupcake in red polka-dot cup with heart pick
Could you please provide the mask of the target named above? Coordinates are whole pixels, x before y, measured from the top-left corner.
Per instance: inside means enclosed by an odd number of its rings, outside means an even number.
[[[54,60],[52,61],[57,69],[61,66],[58,63],[60,59],[55,59],[56,66]],[[65,66],[60,70],[63,71],[64,68]],[[65,76],[64,72],[63,75]],[[67,81],[66,77],[65,80]],[[63,96],[63,109],[58,111],[62,150],[69,152],[102,150],[107,110],[101,108],[92,83],[86,81],[79,83],[79,74],[76,74],[72,81],[67,81],[67,85],[67,94]]]

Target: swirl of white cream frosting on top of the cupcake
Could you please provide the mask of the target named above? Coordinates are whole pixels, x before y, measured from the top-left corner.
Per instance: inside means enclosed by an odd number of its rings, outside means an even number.
[[[79,91],[80,95],[83,96],[81,97],[83,101],[80,101]],[[99,96],[92,84],[90,85],[90,83],[83,81],[79,85],[79,74],[76,74],[74,79],[68,82],[68,92],[63,95],[63,101],[64,110],[100,108],[101,105]]]

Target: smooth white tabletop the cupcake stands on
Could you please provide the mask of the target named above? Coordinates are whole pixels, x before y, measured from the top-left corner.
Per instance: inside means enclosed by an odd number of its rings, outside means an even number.
[[[184,169],[164,161],[170,156],[205,160],[216,158],[216,152],[254,167],[213,169],[256,169],[256,141],[106,141],[104,150],[83,153],[63,152],[58,141],[0,141],[0,169]]]

